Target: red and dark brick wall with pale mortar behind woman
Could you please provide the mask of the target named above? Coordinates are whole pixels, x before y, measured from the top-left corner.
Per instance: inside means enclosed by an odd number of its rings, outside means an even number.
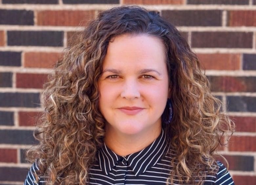
[[[140,4],[177,25],[236,122],[220,151],[236,184],[256,183],[256,0],[0,0],[0,184],[22,184],[46,76],[100,10]]]

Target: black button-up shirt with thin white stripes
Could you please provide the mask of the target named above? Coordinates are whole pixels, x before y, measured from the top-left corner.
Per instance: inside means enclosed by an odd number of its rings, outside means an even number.
[[[109,149],[105,143],[98,150],[98,160],[90,168],[89,184],[97,185],[122,185],[122,184],[144,184],[164,185],[170,176],[172,166],[170,162],[174,151],[168,148],[166,136],[162,129],[160,136],[143,150],[119,156]],[[221,162],[217,162],[219,171],[212,175],[205,175],[204,185],[234,185],[233,179]],[[44,178],[40,177],[35,182],[33,173],[38,167],[34,163],[25,179],[24,185],[43,185]],[[174,185],[181,185],[184,182],[175,177]]]

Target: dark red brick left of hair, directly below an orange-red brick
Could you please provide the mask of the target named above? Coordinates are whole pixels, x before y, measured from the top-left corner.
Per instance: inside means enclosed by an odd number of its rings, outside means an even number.
[[[47,74],[17,73],[16,87],[42,89],[47,76]]]

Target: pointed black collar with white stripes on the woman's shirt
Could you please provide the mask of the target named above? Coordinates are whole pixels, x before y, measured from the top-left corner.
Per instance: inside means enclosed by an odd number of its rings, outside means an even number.
[[[112,168],[117,164],[117,161],[123,157],[127,160],[128,165],[137,177],[156,165],[166,150],[166,135],[162,129],[160,135],[153,143],[143,150],[127,156],[117,155],[104,143],[98,152],[99,166],[100,169],[108,175]]]

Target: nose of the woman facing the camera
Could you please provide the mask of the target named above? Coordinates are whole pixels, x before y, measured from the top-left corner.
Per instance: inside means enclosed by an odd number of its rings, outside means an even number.
[[[122,98],[133,100],[140,97],[139,84],[136,80],[127,79],[124,81],[120,96]]]

